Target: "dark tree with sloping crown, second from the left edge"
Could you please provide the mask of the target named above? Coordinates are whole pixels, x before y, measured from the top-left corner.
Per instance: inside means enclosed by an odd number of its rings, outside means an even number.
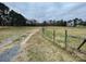
[[[13,10],[10,11],[9,16],[10,16],[10,22],[12,26],[25,26],[26,25],[26,18]]]

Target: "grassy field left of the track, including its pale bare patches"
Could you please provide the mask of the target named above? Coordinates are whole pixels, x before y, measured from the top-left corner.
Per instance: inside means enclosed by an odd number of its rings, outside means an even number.
[[[26,37],[36,27],[0,26],[0,52],[11,49],[20,39]]]

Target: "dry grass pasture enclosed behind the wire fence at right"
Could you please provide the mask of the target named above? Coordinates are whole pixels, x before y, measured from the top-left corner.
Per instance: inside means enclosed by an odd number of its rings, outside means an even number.
[[[62,48],[77,49],[85,39],[85,29],[79,28],[46,28],[44,29],[44,36],[47,37],[53,43],[61,46]],[[86,43],[81,47],[82,51],[86,52]]]

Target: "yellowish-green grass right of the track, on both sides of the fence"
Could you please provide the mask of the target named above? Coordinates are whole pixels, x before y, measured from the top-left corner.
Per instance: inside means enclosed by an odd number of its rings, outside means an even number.
[[[56,38],[53,42],[53,29]],[[66,49],[65,50],[65,29],[67,30]],[[17,55],[15,61],[32,62],[51,62],[51,61],[86,61],[86,56],[77,49],[85,38],[85,28],[81,27],[50,27],[46,26],[35,34],[25,44],[22,54]],[[79,41],[81,40],[81,41]],[[86,44],[81,50],[86,51]],[[70,51],[69,51],[70,50]],[[74,51],[74,52],[73,52]]]

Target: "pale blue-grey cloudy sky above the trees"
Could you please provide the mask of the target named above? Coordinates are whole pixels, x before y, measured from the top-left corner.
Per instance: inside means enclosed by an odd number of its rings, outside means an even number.
[[[4,4],[26,18],[44,21],[78,17],[86,20],[86,3],[84,2],[5,2]]]

